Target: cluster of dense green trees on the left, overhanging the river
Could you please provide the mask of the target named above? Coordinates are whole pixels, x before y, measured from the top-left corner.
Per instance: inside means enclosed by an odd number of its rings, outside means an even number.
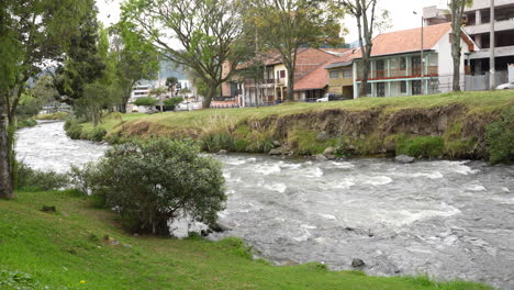
[[[97,13],[94,0],[0,2],[0,198],[13,197],[16,112],[29,80],[52,75],[58,99],[97,123],[105,108],[125,111],[135,82],[155,77],[155,47],[126,25],[102,27]]]

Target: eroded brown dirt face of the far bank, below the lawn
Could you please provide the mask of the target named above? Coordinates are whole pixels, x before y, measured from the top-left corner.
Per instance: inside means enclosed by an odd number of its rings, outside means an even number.
[[[512,161],[513,111],[512,105],[477,110],[450,103],[428,109],[326,109],[262,118],[216,112],[202,122],[180,126],[134,120],[112,130],[108,141],[166,136],[198,141],[209,152],[316,155],[333,147],[336,156],[488,159],[500,154],[502,161]]]

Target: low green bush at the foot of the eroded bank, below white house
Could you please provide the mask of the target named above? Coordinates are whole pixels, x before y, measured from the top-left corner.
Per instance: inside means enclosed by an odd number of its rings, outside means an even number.
[[[420,137],[398,137],[396,155],[405,154],[413,157],[438,157],[444,153],[444,141],[442,137],[420,136]]]

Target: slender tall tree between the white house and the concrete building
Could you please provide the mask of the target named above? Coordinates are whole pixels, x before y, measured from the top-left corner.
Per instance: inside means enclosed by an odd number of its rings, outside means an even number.
[[[454,59],[452,90],[460,91],[460,58],[462,51],[462,23],[466,7],[473,3],[472,0],[450,0],[448,5],[451,14],[451,58]]]

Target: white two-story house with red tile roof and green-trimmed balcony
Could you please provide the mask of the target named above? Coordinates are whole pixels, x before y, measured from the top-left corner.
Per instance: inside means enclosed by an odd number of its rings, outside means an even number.
[[[371,64],[368,75],[368,97],[395,97],[439,93],[451,90],[452,58],[450,23],[424,27],[423,60],[422,29],[380,34],[373,38]],[[466,33],[461,35],[461,87],[468,55],[476,45]],[[362,59],[358,52],[354,57],[354,96],[359,96]]]

